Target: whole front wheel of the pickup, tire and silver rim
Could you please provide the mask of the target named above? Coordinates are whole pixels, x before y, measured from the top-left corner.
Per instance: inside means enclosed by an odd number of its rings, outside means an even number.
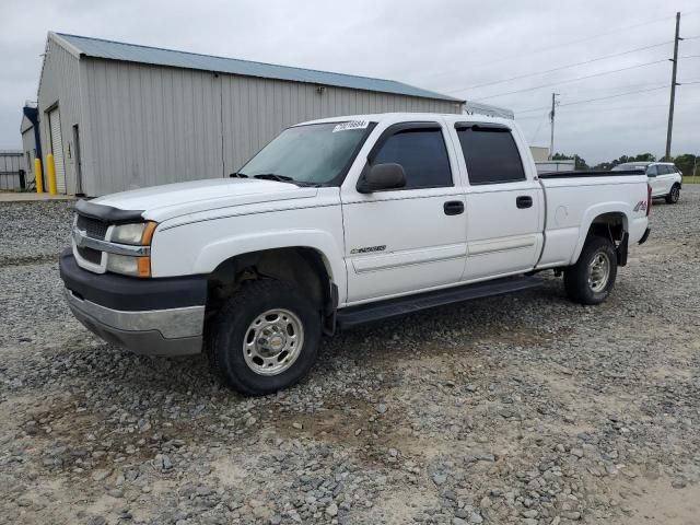
[[[207,328],[213,372],[249,396],[301,380],[316,361],[320,315],[295,288],[275,280],[244,283]]]

